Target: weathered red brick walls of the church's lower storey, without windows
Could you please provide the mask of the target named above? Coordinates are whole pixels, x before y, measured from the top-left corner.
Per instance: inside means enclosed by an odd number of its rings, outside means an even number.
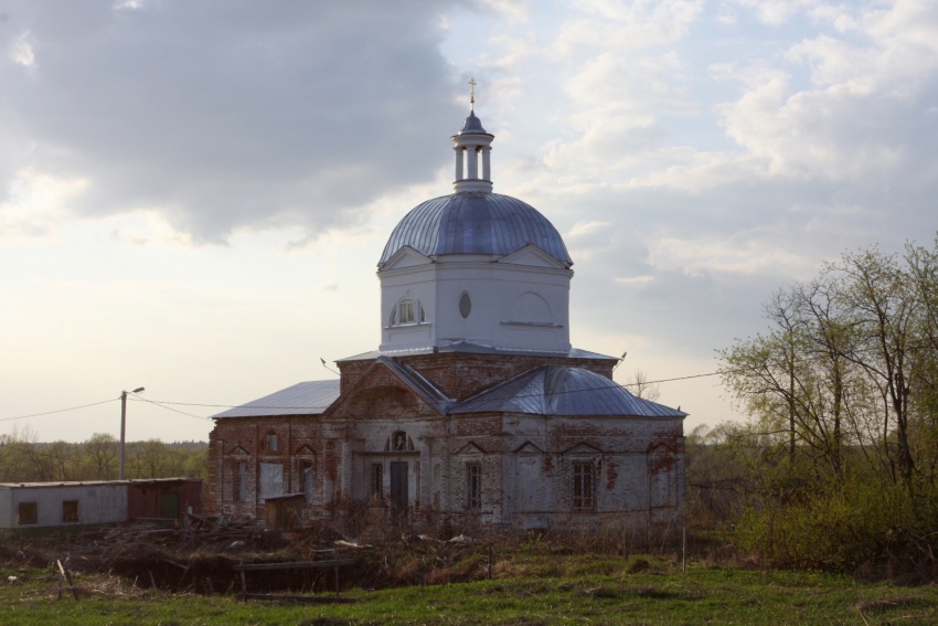
[[[539,365],[577,365],[611,378],[615,364],[615,360],[458,353],[420,354],[399,360],[457,399],[473,395]],[[257,510],[255,496],[259,463],[283,463],[285,491],[302,490],[301,460],[296,453],[306,449],[305,458],[315,461],[316,494],[313,506],[305,508],[307,519],[309,516],[331,518],[347,526],[353,518],[372,522],[386,520],[386,502],[369,502],[367,476],[361,473],[370,463],[398,459],[409,464],[413,481],[408,489],[414,505],[411,521],[418,527],[439,528],[449,523],[458,531],[492,520],[521,523],[523,520],[512,509],[515,481],[505,473],[516,470],[514,452],[526,441],[543,450],[534,455],[540,468],[534,491],[543,503],[541,512],[550,520],[569,516],[572,464],[584,459],[593,460],[597,468],[597,516],[640,512],[648,502],[653,473],[659,470],[676,471],[678,501],[683,501],[680,418],[440,415],[382,367],[361,379],[372,363],[374,361],[365,360],[340,364],[347,395],[323,416],[218,420],[211,435],[211,510],[232,516],[263,516],[263,511]],[[358,381],[354,391],[353,381]],[[413,439],[414,449],[395,456],[394,450],[385,450],[384,443],[398,429]],[[280,438],[281,446],[276,453],[264,449],[268,432],[277,433]],[[467,447],[470,443],[481,452]],[[571,453],[571,448],[584,444],[595,450],[584,447]],[[650,463],[649,450],[660,444],[670,452]],[[239,457],[232,454],[238,446],[244,450]],[[234,501],[232,492],[232,473],[238,459],[246,460],[248,466],[245,476],[248,498],[243,503]],[[465,467],[466,463],[475,461],[481,463],[483,468],[482,510],[468,512],[465,510]],[[350,464],[352,469],[349,469]],[[437,468],[438,479],[435,479]],[[343,471],[358,473],[355,481],[343,478]],[[676,513],[673,510],[671,514]]]

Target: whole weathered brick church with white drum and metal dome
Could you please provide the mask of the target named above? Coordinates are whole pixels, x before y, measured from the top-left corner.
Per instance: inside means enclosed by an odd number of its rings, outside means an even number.
[[[454,193],[391,233],[377,350],[214,416],[213,512],[294,495],[303,521],[356,529],[680,519],[686,414],[571,346],[573,261],[546,217],[493,192],[493,138],[471,110]]]

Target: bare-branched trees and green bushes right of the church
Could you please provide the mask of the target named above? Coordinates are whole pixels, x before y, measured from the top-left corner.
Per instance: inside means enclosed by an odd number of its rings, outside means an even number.
[[[687,437],[694,514],[776,566],[938,576],[938,240],[841,255],[722,350],[749,420]]]

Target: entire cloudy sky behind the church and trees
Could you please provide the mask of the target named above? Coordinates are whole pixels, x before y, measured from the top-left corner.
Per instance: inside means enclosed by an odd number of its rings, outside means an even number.
[[[118,436],[145,386],[128,441],[206,441],[376,349],[470,78],[572,342],[687,432],[745,417],[707,374],[774,291],[935,242],[928,0],[0,0],[0,434]]]

